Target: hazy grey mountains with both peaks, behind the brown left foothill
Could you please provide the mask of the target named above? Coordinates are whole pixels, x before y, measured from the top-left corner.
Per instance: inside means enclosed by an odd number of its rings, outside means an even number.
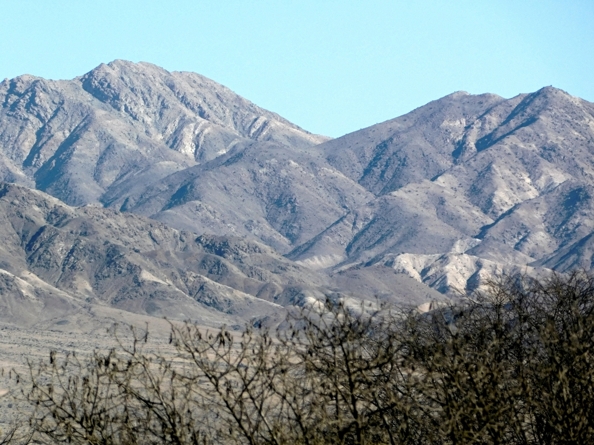
[[[150,63],[21,76],[0,100],[0,180],[267,244],[322,293],[594,265],[594,104],[556,88],[459,91],[336,139]]]

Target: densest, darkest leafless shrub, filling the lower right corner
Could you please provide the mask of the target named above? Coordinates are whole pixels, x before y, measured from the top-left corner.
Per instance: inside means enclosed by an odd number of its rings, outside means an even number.
[[[445,443],[594,441],[594,281],[503,276],[411,320],[410,367]]]

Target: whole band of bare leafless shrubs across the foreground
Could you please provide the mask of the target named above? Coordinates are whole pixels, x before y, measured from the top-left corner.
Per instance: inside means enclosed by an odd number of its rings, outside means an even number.
[[[52,354],[24,395],[43,443],[594,443],[593,311],[582,272],[425,314],[328,300],[274,336],[172,325],[172,356]]]

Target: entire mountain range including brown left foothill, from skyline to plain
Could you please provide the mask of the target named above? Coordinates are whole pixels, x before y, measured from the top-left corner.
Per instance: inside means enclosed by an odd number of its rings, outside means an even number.
[[[236,323],[328,292],[419,304],[592,268],[594,104],[556,88],[457,92],[337,139],[149,63],[24,75],[0,100],[0,180],[65,203],[3,186],[2,276],[31,298],[25,271],[78,302]]]

